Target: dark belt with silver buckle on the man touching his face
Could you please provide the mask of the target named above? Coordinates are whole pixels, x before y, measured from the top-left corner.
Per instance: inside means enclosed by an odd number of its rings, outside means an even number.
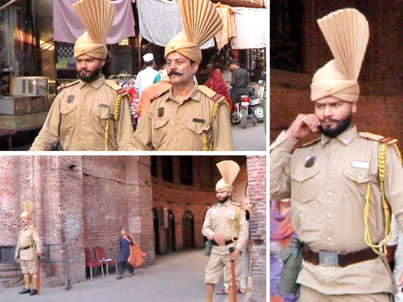
[[[378,254],[376,254],[371,248],[351,253],[340,253],[326,251],[316,252],[312,251],[307,246],[304,246],[304,260],[315,265],[320,264],[324,266],[345,267],[350,264],[375,259],[377,257]]]

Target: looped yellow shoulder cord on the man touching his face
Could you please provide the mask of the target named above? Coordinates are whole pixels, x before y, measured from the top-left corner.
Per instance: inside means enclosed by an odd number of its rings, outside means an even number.
[[[393,147],[396,150],[397,156],[402,162],[401,158],[401,153],[398,148],[398,146],[394,143]],[[370,230],[369,230],[369,212],[370,212],[370,202],[371,202],[371,185],[370,183],[367,184],[367,192],[365,195],[365,210],[364,210],[364,223],[365,223],[365,234],[364,234],[364,240],[365,243],[372,248],[372,250],[377,253],[378,255],[381,256],[386,256],[387,255],[387,247],[386,244],[390,240],[390,207],[387,202],[386,196],[385,196],[385,175],[386,175],[386,169],[385,169],[385,162],[386,162],[386,148],[387,144],[386,143],[381,143],[379,146],[379,163],[378,163],[378,175],[379,175],[379,180],[380,180],[380,189],[381,189],[381,195],[382,195],[382,207],[385,215],[385,237],[378,243],[374,243],[371,238]]]

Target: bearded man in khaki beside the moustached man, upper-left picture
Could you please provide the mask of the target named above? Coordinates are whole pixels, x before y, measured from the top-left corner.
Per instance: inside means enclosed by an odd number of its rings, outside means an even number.
[[[101,74],[115,7],[108,0],[73,6],[87,29],[74,46],[80,80],[59,90],[30,150],[50,150],[58,138],[66,151],[125,150],[133,134],[128,92]]]

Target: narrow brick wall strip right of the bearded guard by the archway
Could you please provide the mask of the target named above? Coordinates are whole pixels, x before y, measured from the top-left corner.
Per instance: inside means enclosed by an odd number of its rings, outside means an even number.
[[[266,301],[266,157],[248,156],[248,193],[253,204],[250,215],[252,248],[252,294],[250,302]]]

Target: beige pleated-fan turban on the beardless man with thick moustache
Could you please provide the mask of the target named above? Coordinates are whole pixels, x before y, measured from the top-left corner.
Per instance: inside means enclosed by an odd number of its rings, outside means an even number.
[[[184,32],[173,37],[165,46],[165,58],[174,51],[190,60],[201,62],[200,46],[223,27],[220,15],[209,0],[179,0]]]

